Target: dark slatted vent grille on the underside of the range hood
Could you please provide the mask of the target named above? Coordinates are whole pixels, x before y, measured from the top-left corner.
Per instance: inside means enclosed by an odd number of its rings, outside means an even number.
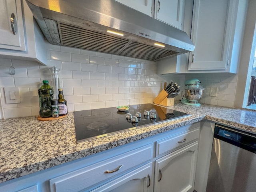
[[[168,55],[178,54],[172,50],[149,46],[133,40],[87,30],[63,22],[58,22],[58,28],[60,41],[64,46],[146,60],[156,60]]]

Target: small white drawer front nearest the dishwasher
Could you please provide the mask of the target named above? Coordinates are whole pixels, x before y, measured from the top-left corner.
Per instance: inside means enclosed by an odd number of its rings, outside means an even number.
[[[156,156],[164,154],[170,150],[173,150],[179,146],[184,146],[185,144],[196,140],[199,138],[200,128],[194,128],[156,142]]]

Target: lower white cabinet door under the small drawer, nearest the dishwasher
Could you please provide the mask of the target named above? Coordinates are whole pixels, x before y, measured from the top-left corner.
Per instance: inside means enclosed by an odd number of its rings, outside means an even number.
[[[198,142],[156,160],[155,191],[192,192]]]

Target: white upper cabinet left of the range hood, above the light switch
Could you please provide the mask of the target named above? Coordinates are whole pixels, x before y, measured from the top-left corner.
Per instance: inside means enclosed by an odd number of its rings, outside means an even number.
[[[46,64],[44,36],[25,0],[0,0],[0,57]]]

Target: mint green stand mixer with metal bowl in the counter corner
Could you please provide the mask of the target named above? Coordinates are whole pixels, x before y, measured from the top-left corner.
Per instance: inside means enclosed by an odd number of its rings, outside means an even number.
[[[200,106],[198,101],[202,97],[204,88],[200,85],[200,81],[196,78],[185,81],[185,99],[181,102],[186,105]]]

